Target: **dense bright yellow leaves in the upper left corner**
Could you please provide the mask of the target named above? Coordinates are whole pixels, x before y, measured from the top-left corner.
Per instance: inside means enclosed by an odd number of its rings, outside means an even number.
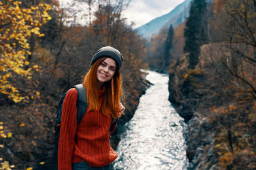
[[[51,10],[49,4],[38,4],[31,8],[20,8],[20,1],[0,1],[0,92],[6,94],[15,103],[22,101],[19,90],[8,81],[13,73],[31,78],[32,69],[25,69],[29,65],[25,61],[29,52],[28,38],[31,33],[40,33],[40,25],[51,20],[47,13]],[[37,68],[38,66],[32,66]]]

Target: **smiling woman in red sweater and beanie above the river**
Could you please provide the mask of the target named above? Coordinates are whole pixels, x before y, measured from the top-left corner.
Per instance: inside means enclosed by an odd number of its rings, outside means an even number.
[[[110,169],[116,159],[117,154],[109,145],[109,134],[115,131],[116,118],[125,110],[121,104],[124,95],[119,72],[122,61],[121,53],[111,46],[95,53],[83,82],[88,108],[78,126],[77,90],[68,90],[61,118],[59,169]]]

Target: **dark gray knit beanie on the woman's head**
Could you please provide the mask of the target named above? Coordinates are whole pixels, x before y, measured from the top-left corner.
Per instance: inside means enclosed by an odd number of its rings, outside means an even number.
[[[100,48],[95,55],[93,55],[92,57],[92,61],[91,61],[91,65],[94,64],[94,62],[98,59],[100,59],[101,57],[109,57],[113,60],[115,60],[116,65],[118,67],[118,69],[120,70],[122,67],[122,61],[123,61],[123,56],[122,54],[116,50],[115,48],[111,47],[111,46],[104,46],[102,48]]]

